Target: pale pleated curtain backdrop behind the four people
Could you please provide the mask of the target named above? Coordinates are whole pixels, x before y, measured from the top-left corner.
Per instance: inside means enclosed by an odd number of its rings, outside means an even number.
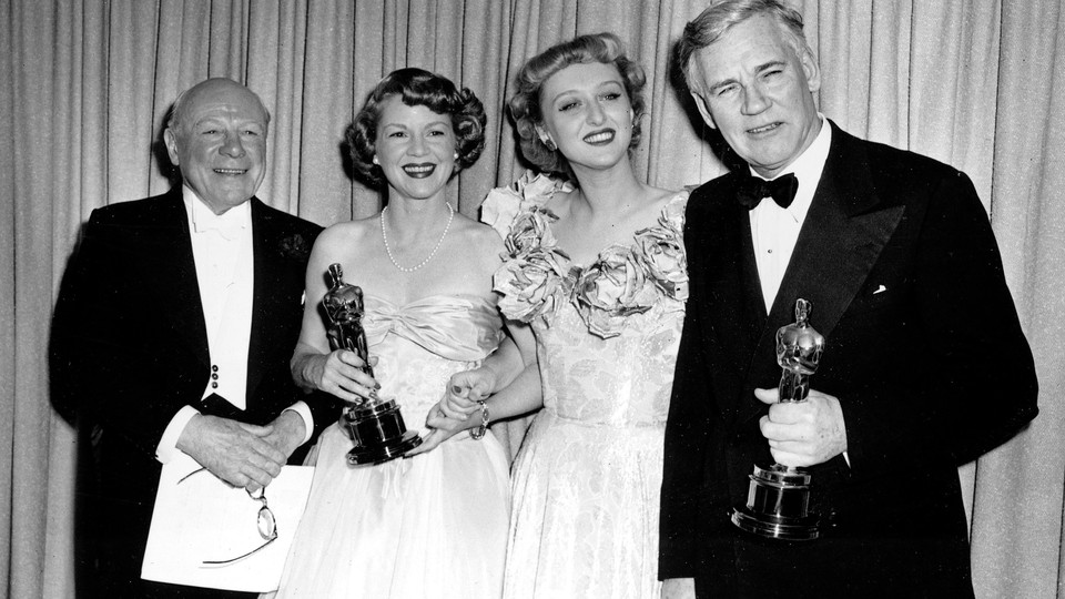
[[[637,171],[655,185],[680,187],[723,172],[668,70],[683,24],[708,3],[0,2],[0,514],[10,515],[0,518],[0,597],[73,596],[74,434],[49,400],[51,309],[89,213],[170,185],[158,142],[179,91],[207,77],[256,91],[273,116],[260,197],[327,225],[379,210],[376,192],[345,172],[341,149],[366,94],[393,69],[439,72],[474,90],[489,115],[484,155],[450,192],[475,214],[490,187],[525,170],[504,111],[520,64],[575,34],[613,31],[648,73]],[[821,63],[821,110],[852,133],[964,170],[992,216],[1042,392],[1031,427],[960,470],[976,591],[1063,597],[1059,0],[793,6]],[[511,443],[519,438],[515,427]]]

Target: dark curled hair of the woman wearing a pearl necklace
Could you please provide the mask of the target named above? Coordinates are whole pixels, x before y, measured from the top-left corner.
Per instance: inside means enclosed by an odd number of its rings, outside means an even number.
[[[382,104],[390,95],[398,95],[408,106],[426,106],[437,114],[452,118],[455,151],[458,153],[452,176],[480,158],[485,149],[488,118],[474,92],[466,88],[458,90],[449,79],[436,73],[415,68],[398,69],[377,83],[363,109],[355,115],[355,121],[344,132],[352,165],[367,183],[375,187],[385,184],[384,172],[374,164],[374,155],[377,153],[377,122],[381,120]]]

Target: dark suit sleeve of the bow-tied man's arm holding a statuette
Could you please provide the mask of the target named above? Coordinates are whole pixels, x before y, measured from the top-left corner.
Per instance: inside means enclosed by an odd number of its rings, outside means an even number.
[[[875,471],[910,449],[907,432],[945,446],[957,464],[1010,439],[1038,413],[1032,352],[1006,287],[998,247],[970,179],[949,170],[933,185],[916,237],[915,318],[921,370],[904,389],[917,400],[863,402],[848,414],[850,458]],[[899,376],[906,376],[900,373]],[[909,398],[907,398],[909,399]],[[891,426],[896,423],[897,426]],[[894,449],[893,449],[894,447]]]

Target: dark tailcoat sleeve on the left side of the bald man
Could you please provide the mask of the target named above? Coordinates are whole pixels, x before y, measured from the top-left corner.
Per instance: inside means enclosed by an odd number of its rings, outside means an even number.
[[[88,413],[138,449],[154,455],[183,388],[156,385],[165,357],[151,351],[128,290],[136,285],[122,226],[93,211],[71,257],[52,323],[51,385],[60,413]],[[191,379],[190,379],[191,383]]]

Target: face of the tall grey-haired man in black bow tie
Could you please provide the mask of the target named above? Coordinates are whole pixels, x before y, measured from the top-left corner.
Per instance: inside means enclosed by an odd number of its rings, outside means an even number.
[[[689,70],[703,120],[762,176],[775,176],[816,139],[821,71],[771,17],[733,26],[697,51]]]

